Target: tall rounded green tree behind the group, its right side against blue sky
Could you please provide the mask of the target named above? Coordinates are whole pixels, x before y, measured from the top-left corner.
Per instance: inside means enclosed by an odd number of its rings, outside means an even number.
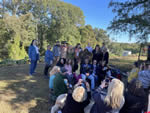
[[[49,4],[51,13],[49,37],[55,41],[68,41],[75,45],[80,42],[78,27],[84,25],[84,15],[80,8],[63,1]]]

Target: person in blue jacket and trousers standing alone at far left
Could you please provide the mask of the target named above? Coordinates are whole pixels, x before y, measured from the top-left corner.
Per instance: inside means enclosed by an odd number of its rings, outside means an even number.
[[[30,72],[29,75],[32,76],[35,73],[35,69],[37,66],[37,61],[39,60],[39,48],[37,47],[37,40],[32,40],[32,43],[28,50],[30,64]]]

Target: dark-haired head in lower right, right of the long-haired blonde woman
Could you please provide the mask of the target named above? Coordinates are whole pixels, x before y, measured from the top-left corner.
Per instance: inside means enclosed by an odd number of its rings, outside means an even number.
[[[128,85],[128,91],[134,96],[143,96],[145,94],[142,83],[138,79],[131,80]]]

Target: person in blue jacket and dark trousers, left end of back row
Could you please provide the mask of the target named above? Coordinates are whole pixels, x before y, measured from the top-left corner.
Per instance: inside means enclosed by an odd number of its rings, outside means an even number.
[[[47,46],[47,51],[45,52],[45,69],[44,76],[48,78],[48,69],[53,64],[53,52],[51,51],[51,46]]]

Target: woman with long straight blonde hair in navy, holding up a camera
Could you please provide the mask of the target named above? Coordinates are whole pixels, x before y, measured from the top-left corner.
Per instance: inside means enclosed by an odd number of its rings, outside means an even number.
[[[106,94],[102,90],[107,86]],[[123,92],[124,84],[119,79],[113,79],[109,85],[108,81],[104,80],[92,94],[95,104],[91,113],[119,113],[125,102]]]

